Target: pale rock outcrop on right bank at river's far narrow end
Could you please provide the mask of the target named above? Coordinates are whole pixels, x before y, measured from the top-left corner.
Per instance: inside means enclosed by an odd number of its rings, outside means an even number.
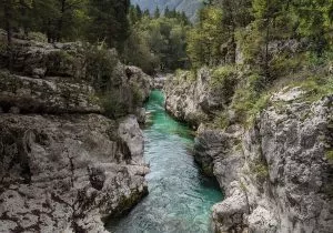
[[[210,114],[222,109],[222,97],[210,85],[210,71],[198,71],[196,80],[191,72],[170,75],[164,85],[165,109],[174,118],[199,126]]]

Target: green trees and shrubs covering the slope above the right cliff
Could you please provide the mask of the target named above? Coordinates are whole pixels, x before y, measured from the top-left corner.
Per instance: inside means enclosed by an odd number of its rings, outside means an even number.
[[[224,110],[232,110],[248,124],[285,85],[311,90],[309,100],[332,93],[332,12],[329,0],[215,0],[203,8],[186,52],[193,70],[211,70],[211,87],[226,100],[214,122],[226,126]]]

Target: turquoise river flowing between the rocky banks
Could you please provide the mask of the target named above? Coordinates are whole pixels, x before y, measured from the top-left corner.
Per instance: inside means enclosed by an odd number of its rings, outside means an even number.
[[[203,176],[191,155],[191,130],[168,115],[164,97],[153,91],[144,130],[149,195],[127,216],[107,225],[115,233],[210,232],[211,207],[222,200],[215,182]]]

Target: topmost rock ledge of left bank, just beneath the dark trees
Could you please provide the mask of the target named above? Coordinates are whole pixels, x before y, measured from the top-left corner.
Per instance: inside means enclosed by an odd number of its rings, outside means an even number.
[[[80,42],[41,43],[14,39],[13,70],[23,75],[43,77],[85,77],[85,58]],[[1,53],[0,68],[7,65],[8,55]]]

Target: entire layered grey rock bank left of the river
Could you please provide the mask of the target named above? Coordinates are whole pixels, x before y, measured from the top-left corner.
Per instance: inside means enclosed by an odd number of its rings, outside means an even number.
[[[8,55],[0,54],[0,232],[105,232],[104,217],[148,193],[135,114],[142,119],[151,78],[80,43],[14,40],[12,72]]]

